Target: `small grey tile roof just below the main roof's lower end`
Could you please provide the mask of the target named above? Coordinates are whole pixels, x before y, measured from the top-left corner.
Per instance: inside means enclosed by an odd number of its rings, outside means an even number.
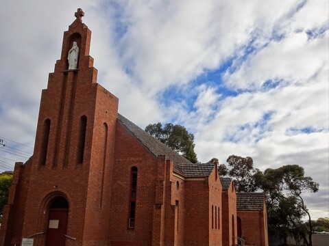
[[[179,163],[178,167],[185,177],[208,177],[214,169],[214,163]]]

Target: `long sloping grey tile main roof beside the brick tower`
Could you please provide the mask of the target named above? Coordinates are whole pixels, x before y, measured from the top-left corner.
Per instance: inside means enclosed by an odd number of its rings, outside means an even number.
[[[149,133],[145,132],[142,128],[136,126],[136,124],[132,123],[119,113],[118,120],[123,126],[125,126],[127,131],[130,131],[130,133],[132,133],[132,135],[134,135],[134,137],[136,137],[136,139],[138,139],[138,141],[140,141],[149,152],[154,154],[154,156],[165,155],[167,156],[167,159],[173,161],[174,172],[183,174],[178,167],[178,163],[191,163],[191,161],[188,161],[188,159],[185,159],[178,154],[178,152],[175,152],[175,150],[172,150],[155,137],[149,135]]]

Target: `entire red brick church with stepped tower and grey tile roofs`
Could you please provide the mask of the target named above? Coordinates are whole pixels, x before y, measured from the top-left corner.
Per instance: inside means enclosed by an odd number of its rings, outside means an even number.
[[[191,163],[118,113],[82,16],[42,90],[34,154],[15,165],[0,245],[267,246],[263,193],[236,194],[217,165]]]

